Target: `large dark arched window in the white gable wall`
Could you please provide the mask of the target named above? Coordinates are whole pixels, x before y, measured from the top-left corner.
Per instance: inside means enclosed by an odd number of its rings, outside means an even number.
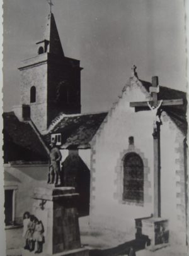
[[[144,164],[135,152],[123,160],[123,200],[144,202]]]

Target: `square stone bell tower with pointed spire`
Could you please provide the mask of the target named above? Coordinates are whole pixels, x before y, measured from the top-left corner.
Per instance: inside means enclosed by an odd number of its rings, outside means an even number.
[[[64,55],[53,13],[33,58],[18,68],[21,105],[30,107],[30,118],[40,132],[59,115],[81,113],[80,61]]]

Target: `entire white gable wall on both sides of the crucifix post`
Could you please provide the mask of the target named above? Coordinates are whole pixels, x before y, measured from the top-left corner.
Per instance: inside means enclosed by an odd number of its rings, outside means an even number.
[[[153,117],[151,111],[135,113],[129,106],[129,102],[147,99],[149,95],[141,83],[130,81],[91,143],[90,224],[125,232],[130,239],[135,236],[134,219],[153,213]],[[164,123],[161,126],[162,217],[170,219],[172,237],[177,238],[180,233],[176,235],[176,227],[184,235],[185,225],[180,221],[185,204],[178,203],[183,202],[183,196],[179,199],[183,185],[178,178],[180,171],[183,173],[180,160],[183,157],[183,137],[178,128],[169,131],[166,126]],[[129,145],[131,136],[134,137],[132,147]],[[144,163],[144,202],[140,204],[122,199],[123,156],[128,152],[139,154]],[[185,243],[183,236],[180,240],[180,243]]]

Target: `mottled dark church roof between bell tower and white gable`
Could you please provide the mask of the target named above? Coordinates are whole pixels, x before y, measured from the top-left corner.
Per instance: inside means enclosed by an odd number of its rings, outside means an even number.
[[[45,141],[50,143],[51,133],[62,134],[62,148],[70,146],[90,147],[89,142],[94,137],[96,131],[105,119],[108,113],[96,114],[73,114],[69,116],[62,115],[52,128],[52,130],[44,136]]]

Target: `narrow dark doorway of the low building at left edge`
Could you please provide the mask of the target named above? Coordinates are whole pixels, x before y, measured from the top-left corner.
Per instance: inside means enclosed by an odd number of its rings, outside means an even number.
[[[13,225],[13,193],[14,190],[4,191],[4,214],[6,226]]]

